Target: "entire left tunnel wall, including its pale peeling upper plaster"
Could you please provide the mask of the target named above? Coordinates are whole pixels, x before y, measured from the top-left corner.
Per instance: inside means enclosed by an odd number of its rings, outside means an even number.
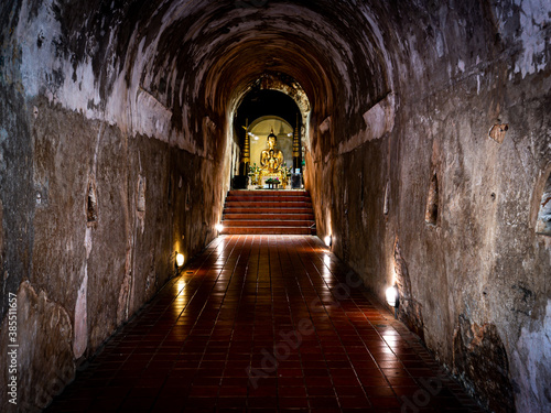
[[[176,251],[190,259],[216,237],[229,181],[224,123],[190,113],[193,132],[179,129],[132,83],[144,61],[123,68],[109,28],[82,39],[88,11],[71,10],[1,6],[0,344],[7,351],[12,303],[19,344],[18,404],[2,390],[6,412],[45,407],[175,273]]]

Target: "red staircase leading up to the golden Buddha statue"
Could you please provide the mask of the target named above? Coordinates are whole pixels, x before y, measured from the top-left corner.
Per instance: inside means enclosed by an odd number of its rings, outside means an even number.
[[[315,235],[306,191],[229,191],[223,235]]]

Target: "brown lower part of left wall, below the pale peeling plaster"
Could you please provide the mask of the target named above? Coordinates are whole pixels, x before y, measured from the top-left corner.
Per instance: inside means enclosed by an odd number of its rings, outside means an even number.
[[[148,137],[129,137],[42,98],[26,107],[30,137],[18,137],[17,128],[6,133],[15,146],[31,139],[26,173],[32,186],[23,192],[24,186],[17,187],[21,177],[12,176],[14,193],[2,205],[23,215],[28,222],[18,228],[32,232],[20,241],[29,242],[18,262],[24,271],[12,263],[13,236],[6,241],[3,300],[7,304],[8,293],[22,291],[19,282],[47,304],[36,307],[28,293],[18,295],[20,381],[13,411],[47,405],[72,379],[76,360],[93,355],[174,273],[175,251],[188,259],[216,236],[215,211],[223,202],[214,188],[222,177],[213,161]],[[13,162],[9,153],[2,156]],[[18,205],[28,195],[32,204],[24,210]],[[209,207],[192,208],[197,202]],[[4,233],[13,219],[4,213]],[[56,314],[63,325],[52,318]],[[6,374],[0,383],[6,388]],[[11,407],[4,395],[2,409]]]

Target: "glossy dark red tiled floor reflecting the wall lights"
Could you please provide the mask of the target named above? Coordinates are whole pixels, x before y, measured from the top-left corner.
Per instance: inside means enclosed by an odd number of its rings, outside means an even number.
[[[314,237],[216,239],[48,412],[477,412]]]

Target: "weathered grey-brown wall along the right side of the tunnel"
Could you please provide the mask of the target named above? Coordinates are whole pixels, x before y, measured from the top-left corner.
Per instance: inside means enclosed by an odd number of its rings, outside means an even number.
[[[398,284],[400,317],[483,405],[544,412],[551,239],[534,228],[551,171],[551,10],[431,4],[387,21],[402,37],[385,37],[395,113],[365,116],[354,135],[338,116],[312,126],[318,233],[381,301]]]

